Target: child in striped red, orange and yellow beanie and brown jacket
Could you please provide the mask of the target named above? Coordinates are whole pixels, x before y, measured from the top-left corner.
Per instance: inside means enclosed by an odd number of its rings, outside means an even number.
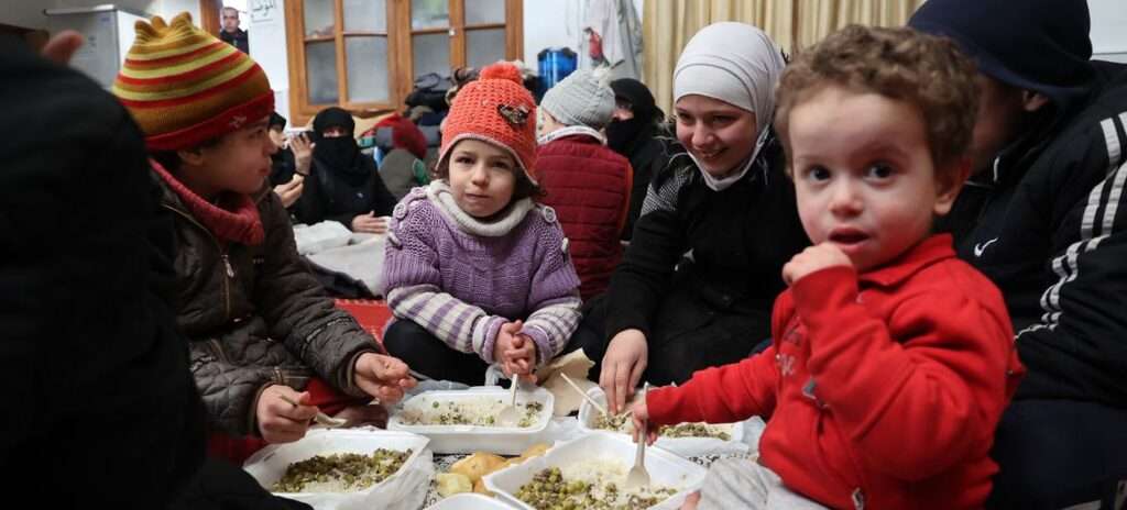
[[[266,177],[274,92],[261,68],[192,25],[136,24],[114,93],[145,135],[179,250],[177,323],[211,422],[212,453],[241,462],[300,439],[318,408],[353,422],[385,417],[414,385],[337,310],[294,248]]]

